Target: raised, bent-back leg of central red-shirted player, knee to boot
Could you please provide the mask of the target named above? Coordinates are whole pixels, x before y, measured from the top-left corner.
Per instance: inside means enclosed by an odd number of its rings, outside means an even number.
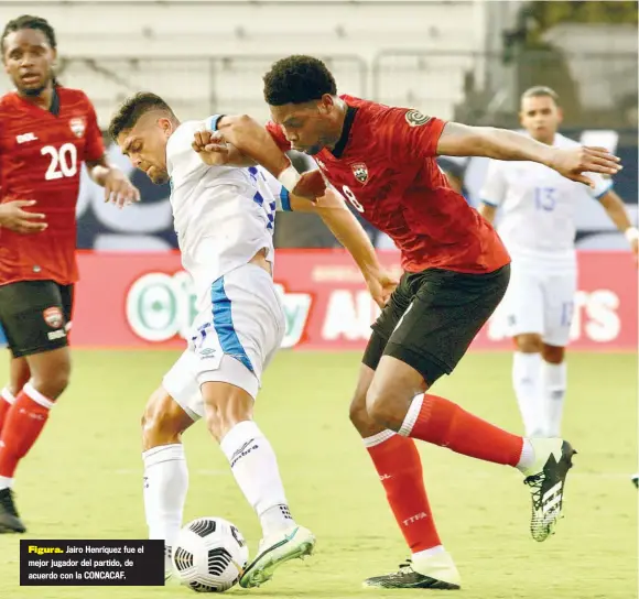
[[[532,494],[532,537],[545,541],[562,514],[565,479],[575,454],[571,445],[512,435],[448,400],[421,393],[422,385],[414,368],[382,356],[368,391],[368,413],[400,435],[518,468]]]

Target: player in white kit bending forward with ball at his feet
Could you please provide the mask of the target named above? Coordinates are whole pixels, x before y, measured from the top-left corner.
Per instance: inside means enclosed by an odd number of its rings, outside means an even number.
[[[313,204],[290,194],[261,167],[205,163],[206,154],[193,143],[203,128],[215,129],[216,118],[180,123],[161,98],[138,94],[113,117],[109,133],[151,181],[171,182],[182,262],[197,291],[198,314],[187,349],[151,396],[143,417],[150,537],[164,540],[170,554],[188,484],[181,436],[204,417],[262,525],[257,557],[240,579],[242,587],[254,587],[280,564],[310,554],[315,544],[311,531],[293,520],[275,454],[252,421],[262,372],[285,328],[272,280],[275,209],[292,205],[317,211],[354,255],[379,302],[392,280],[334,192]],[[314,197],[313,190],[302,190]],[[300,193],[297,187],[293,192]]]

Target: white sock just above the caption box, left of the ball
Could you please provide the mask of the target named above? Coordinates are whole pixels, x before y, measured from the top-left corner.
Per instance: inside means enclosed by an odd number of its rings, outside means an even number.
[[[188,489],[188,470],[182,444],[160,445],[142,454],[144,512],[149,538],[163,538],[171,547],[182,527]]]

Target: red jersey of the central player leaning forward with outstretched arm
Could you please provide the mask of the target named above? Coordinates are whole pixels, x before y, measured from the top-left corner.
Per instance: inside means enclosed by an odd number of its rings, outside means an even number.
[[[409,272],[485,273],[510,258],[495,229],[453,190],[436,162],[445,122],[418,110],[340,96],[348,109],[333,151],[313,156],[326,178],[401,251]],[[267,129],[289,150],[281,127]]]

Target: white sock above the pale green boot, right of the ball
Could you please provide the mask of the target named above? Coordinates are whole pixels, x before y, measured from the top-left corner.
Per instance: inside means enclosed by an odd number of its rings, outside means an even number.
[[[236,424],[219,444],[234,477],[260,519],[263,536],[295,524],[291,518],[275,453],[252,421]]]

